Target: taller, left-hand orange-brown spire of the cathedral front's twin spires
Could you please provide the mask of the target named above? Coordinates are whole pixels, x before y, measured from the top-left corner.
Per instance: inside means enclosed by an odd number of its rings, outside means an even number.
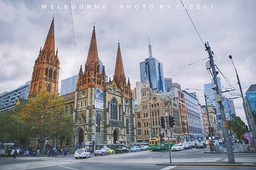
[[[97,42],[96,42],[96,33],[95,33],[95,26],[92,34],[91,44],[87,56],[87,62],[93,61],[94,63],[98,62],[98,51],[97,51]]]

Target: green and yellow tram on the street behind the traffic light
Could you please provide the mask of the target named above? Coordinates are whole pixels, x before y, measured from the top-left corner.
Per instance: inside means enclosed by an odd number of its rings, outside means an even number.
[[[170,148],[175,144],[177,144],[177,140],[175,138],[170,138]],[[149,145],[150,145],[150,149],[152,150],[160,151],[160,150],[169,149],[168,138],[163,138],[162,144],[160,142],[160,138],[151,138]]]

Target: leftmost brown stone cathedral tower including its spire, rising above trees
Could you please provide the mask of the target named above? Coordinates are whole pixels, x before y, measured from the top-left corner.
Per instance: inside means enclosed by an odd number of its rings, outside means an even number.
[[[54,18],[43,49],[34,62],[29,97],[35,97],[40,90],[47,90],[55,96],[58,93],[60,61],[58,48],[55,53]]]

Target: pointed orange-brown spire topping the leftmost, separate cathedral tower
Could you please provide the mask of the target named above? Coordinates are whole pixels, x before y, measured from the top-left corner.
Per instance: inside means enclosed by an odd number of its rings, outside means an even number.
[[[52,24],[50,26],[47,38],[45,40],[44,46],[43,46],[43,51],[47,52],[48,54],[53,51],[55,53],[55,38],[54,38],[54,17]]]

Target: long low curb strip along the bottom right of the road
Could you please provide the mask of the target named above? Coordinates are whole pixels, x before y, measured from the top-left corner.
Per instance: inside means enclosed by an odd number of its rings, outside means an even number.
[[[159,163],[158,166],[212,166],[212,167],[256,167],[254,163],[237,163],[237,164],[229,164],[229,163],[223,163],[223,164],[215,164],[212,162],[208,163]]]

